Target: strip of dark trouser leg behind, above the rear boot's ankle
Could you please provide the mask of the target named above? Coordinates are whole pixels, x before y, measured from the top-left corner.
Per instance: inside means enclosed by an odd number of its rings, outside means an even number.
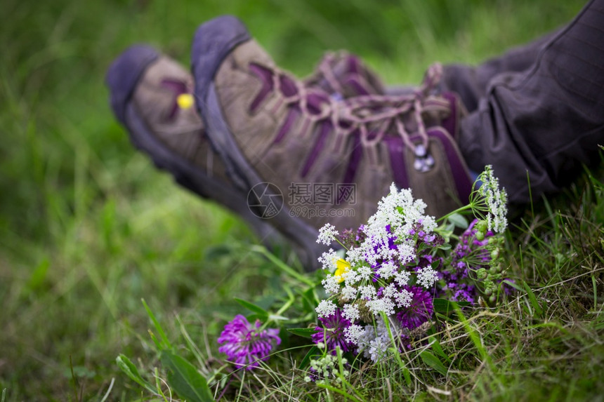
[[[478,107],[478,100],[485,96],[489,81],[503,72],[523,72],[531,67],[543,46],[560,32],[551,32],[523,46],[490,58],[478,66],[451,64],[442,68],[442,91],[458,93],[468,112]]]

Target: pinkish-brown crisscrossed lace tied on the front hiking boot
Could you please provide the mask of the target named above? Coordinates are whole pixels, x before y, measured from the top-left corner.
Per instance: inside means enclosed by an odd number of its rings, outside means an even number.
[[[265,68],[273,72],[273,90],[282,95],[273,110],[276,111],[282,104],[296,105],[305,119],[304,129],[309,124],[331,121],[336,135],[347,136],[358,132],[366,147],[376,145],[386,135],[398,135],[405,146],[413,150],[416,170],[428,171],[434,165],[422,115],[432,112],[447,116],[451,112],[447,100],[433,95],[442,77],[440,63],[428,67],[423,82],[413,93],[360,95],[347,99],[341,99],[337,94],[330,96],[320,88],[308,87],[301,81],[289,78],[277,67]],[[326,77],[330,85],[336,88],[337,79],[331,75],[328,72]],[[419,136],[419,141],[412,140],[412,137],[416,138],[414,134]]]

